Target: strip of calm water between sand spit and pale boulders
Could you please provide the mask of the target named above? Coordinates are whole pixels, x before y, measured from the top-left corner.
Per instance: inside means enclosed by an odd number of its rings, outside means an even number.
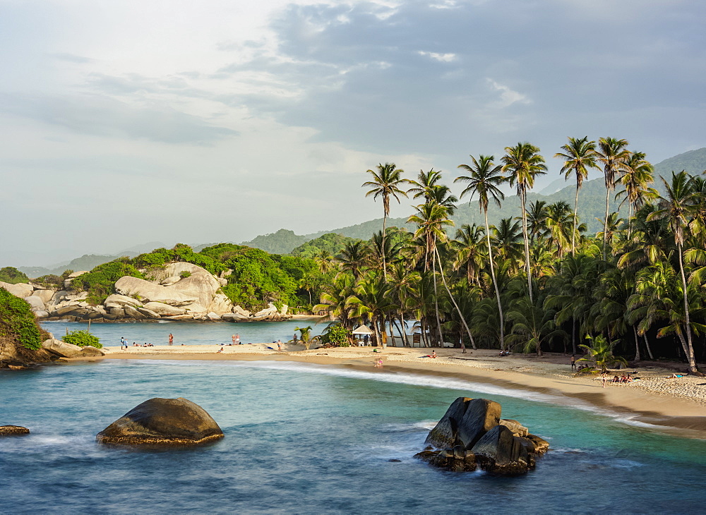
[[[270,341],[289,341],[294,327],[311,326],[311,336],[321,334],[326,324],[316,325],[316,320],[286,320],[284,322],[119,322],[90,325],[90,332],[100,338],[104,346],[119,346],[120,338],[138,344],[167,345],[169,333],[174,334],[174,345],[218,345],[232,342],[234,334],[240,335],[243,344],[262,344]],[[42,322],[42,327],[56,338],[68,331],[85,330],[88,322]],[[298,333],[297,333],[298,334]]]

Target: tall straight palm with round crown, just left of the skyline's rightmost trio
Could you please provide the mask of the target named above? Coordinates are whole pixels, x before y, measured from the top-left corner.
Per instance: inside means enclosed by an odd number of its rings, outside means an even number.
[[[539,154],[539,147],[531,143],[520,142],[514,147],[505,147],[502,159],[503,172],[508,173],[510,186],[517,187],[522,208],[522,236],[525,238],[525,271],[527,288],[532,301],[532,272],[530,271],[530,240],[527,238],[527,191],[534,187],[534,178],[546,174],[544,157]]]

